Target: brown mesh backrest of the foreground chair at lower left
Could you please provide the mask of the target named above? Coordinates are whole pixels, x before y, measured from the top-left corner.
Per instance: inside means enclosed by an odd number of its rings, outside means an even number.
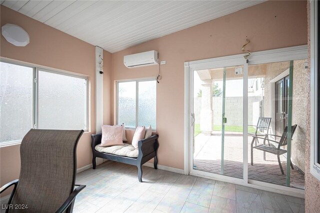
[[[10,204],[27,205],[28,212],[55,212],[74,188],[76,145],[82,133],[30,129],[21,141],[20,176]]]

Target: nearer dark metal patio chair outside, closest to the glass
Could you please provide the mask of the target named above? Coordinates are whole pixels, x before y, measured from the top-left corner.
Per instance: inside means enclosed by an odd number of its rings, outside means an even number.
[[[293,137],[293,133],[295,131],[296,126],[297,126],[297,124],[291,126],[291,138]],[[280,155],[286,153],[286,150],[285,149],[281,149],[280,147],[287,144],[287,131],[288,131],[288,127],[285,126],[284,131],[283,131],[281,136],[278,136],[278,135],[275,135],[275,134],[265,134],[264,137],[253,136],[252,141],[251,141],[251,165],[253,165],[253,148],[256,148],[256,149],[261,150],[261,151],[266,151],[266,152],[269,152],[269,153],[272,153],[272,154],[276,154],[277,158],[278,158],[278,163],[279,163],[279,166],[280,166],[281,173],[284,174],[283,168],[282,168],[282,165],[281,165],[281,161],[280,161]],[[280,140],[279,140],[279,142],[277,142],[275,140],[269,139],[268,136],[280,137]],[[263,139],[263,144],[253,146],[253,142],[255,141],[256,138]],[[268,141],[267,145],[265,144],[265,140]],[[277,143],[278,146],[275,147],[274,145],[270,144],[270,141]],[[290,161],[290,166],[293,169],[293,165],[292,165],[291,161]]]

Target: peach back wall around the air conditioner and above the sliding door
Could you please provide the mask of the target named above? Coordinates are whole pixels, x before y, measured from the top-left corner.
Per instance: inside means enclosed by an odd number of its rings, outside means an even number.
[[[157,50],[160,60],[166,60],[156,88],[158,162],[183,168],[183,63],[241,53],[246,36],[251,51],[306,44],[306,24],[306,1],[267,1],[113,53],[111,116],[114,80],[155,77],[158,72],[155,65],[126,68],[123,56]]]

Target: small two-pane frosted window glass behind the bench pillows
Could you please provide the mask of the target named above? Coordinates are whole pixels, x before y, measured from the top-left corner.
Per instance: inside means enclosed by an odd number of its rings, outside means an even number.
[[[125,127],[156,127],[156,80],[140,79],[117,82],[117,124]]]

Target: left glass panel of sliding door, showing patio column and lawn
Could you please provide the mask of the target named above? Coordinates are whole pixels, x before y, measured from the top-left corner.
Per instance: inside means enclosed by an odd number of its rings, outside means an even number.
[[[243,65],[193,71],[193,168],[243,177]]]

